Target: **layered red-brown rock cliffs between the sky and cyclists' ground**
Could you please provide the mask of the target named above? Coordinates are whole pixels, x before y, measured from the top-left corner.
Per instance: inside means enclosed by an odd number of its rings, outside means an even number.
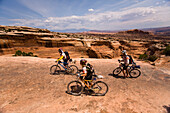
[[[34,52],[40,57],[56,57],[57,49],[63,48],[71,52],[73,57],[114,58],[124,48],[132,56],[138,57],[147,50],[153,50],[152,46],[154,48],[160,44],[165,47],[169,41],[156,40],[149,32],[136,29],[117,34],[73,34],[30,27],[0,26],[1,55],[23,50]]]

